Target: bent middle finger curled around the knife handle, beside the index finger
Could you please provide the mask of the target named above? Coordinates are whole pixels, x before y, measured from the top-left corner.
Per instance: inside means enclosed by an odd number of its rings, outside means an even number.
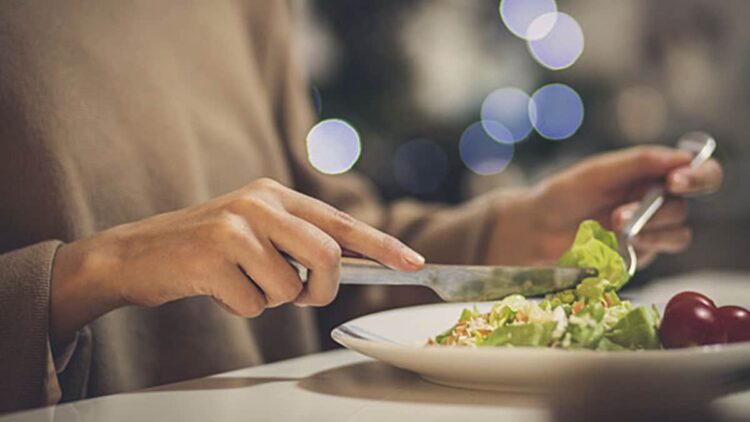
[[[315,225],[287,214],[271,241],[308,269],[307,283],[294,303],[324,306],[336,297],[341,275],[341,247]]]

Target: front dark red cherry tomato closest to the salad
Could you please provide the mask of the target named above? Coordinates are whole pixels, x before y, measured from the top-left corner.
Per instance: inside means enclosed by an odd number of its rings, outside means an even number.
[[[664,312],[659,337],[667,349],[726,343],[716,308],[696,300],[675,303]]]

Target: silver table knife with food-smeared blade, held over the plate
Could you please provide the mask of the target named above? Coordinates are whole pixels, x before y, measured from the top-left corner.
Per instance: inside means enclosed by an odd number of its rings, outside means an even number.
[[[307,268],[289,259],[302,280]],[[594,268],[510,267],[425,264],[416,272],[401,272],[364,258],[341,258],[341,284],[424,286],[446,302],[498,300],[512,294],[538,296],[571,288]]]

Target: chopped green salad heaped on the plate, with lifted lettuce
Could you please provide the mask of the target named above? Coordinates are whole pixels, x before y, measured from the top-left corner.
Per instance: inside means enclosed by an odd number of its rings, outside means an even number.
[[[458,322],[430,338],[447,346],[534,346],[562,349],[659,349],[659,313],[654,306],[634,307],[617,291],[629,279],[617,252],[617,237],[599,223],[581,223],[561,266],[593,267],[597,277],[543,300],[508,296],[489,312],[464,309]]]

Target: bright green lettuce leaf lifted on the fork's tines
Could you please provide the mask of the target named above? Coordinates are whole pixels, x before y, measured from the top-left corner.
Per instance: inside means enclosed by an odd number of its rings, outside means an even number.
[[[617,237],[594,220],[581,223],[573,245],[563,254],[558,265],[593,267],[599,271],[599,277],[594,279],[599,280],[598,286],[592,281],[589,288],[578,291],[578,294],[590,300],[600,299],[599,293],[603,294],[608,288],[619,290],[630,278],[625,262],[617,252]]]

